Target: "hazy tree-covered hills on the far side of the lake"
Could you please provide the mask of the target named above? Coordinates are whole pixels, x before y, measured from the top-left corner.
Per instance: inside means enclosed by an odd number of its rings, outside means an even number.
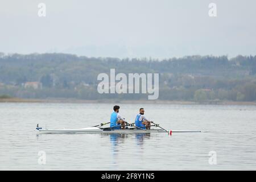
[[[0,94],[20,98],[144,100],[145,94],[98,94],[97,76],[159,73],[159,100],[255,101],[256,56],[185,56],[165,60],[85,57],[64,53],[0,53]],[[40,82],[42,89],[24,88]]]

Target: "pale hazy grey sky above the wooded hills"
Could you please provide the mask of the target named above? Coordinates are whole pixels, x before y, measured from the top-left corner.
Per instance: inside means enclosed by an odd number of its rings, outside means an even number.
[[[46,4],[46,17],[38,4]],[[209,3],[217,17],[209,17]],[[256,55],[255,0],[0,0],[0,52]]]

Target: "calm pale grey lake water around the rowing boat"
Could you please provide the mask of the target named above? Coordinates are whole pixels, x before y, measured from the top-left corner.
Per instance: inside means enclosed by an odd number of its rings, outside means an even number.
[[[113,104],[0,103],[0,169],[256,170],[256,106],[119,105],[129,122],[144,107],[165,129],[204,132],[37,135],[37,123],[75,129],[108,122]]]

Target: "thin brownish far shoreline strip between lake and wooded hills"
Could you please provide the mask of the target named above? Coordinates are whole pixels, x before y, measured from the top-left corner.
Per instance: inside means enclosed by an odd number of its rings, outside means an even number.
[[[76,99],[23,99],[23,98],[2,98],[0,103],[77,103],[77,104],[170,104],[170,105],[256,105],[256,102],[237,101],[167,101],[167,100],[76,100]]]

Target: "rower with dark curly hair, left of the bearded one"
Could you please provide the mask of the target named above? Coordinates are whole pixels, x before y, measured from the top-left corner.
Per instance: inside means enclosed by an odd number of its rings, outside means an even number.
[[[121,129],[121,126],[122,126],[122,129],[125,129],[125,118],[123,118],[119,114],[120,107],[115,105],[113,109],[114,109],[114,112],[110,116],[110,127],[113,127],[113,129],[118,130],[118,129]]]

